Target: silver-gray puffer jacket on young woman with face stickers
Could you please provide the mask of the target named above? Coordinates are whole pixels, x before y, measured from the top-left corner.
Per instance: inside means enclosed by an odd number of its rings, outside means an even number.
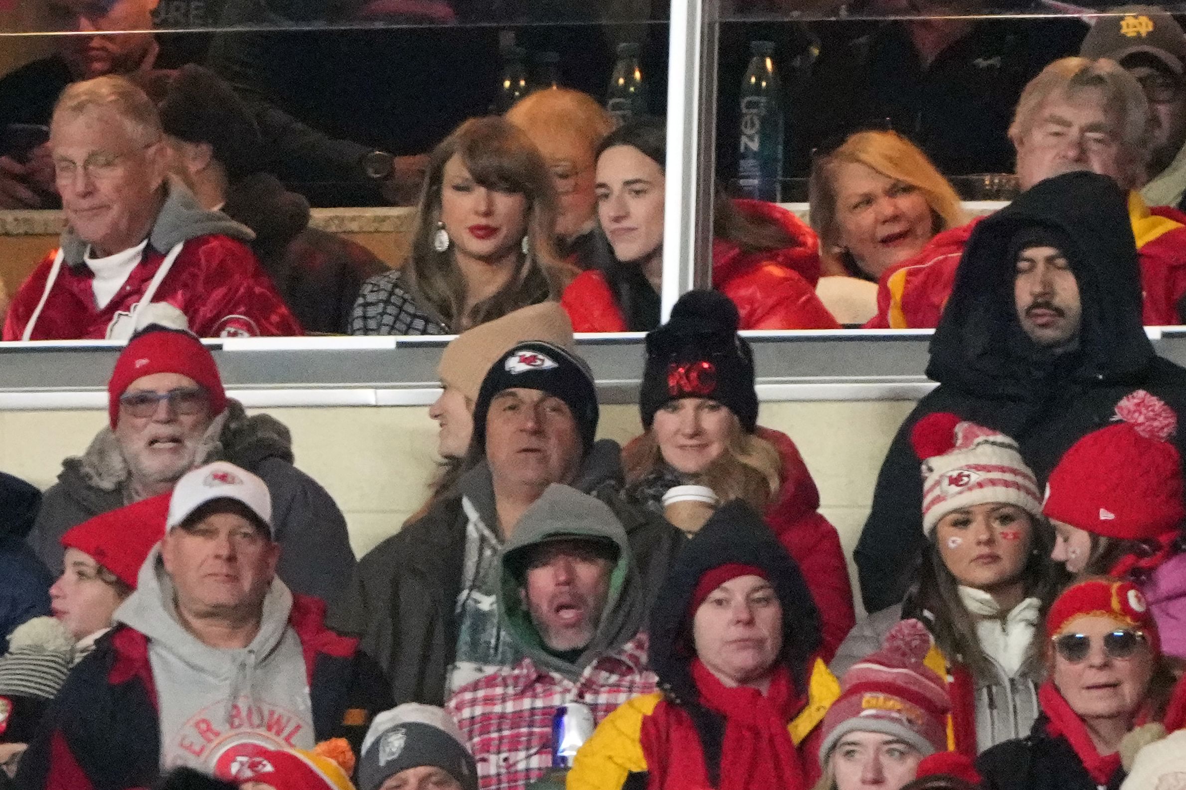
[[[836,657],[831,660],[828,668],[834,675],[842,677],[854,663],[879,650],[886,634],[901,618],[901,604],[894,604],[856,623],[841,642],[836,650]],[[930,612],[923,612],[919,619],[927,623],[932,618]],[[1038,683],[1041,682],[1040,668],[1031,662],[1021,667],[1015,675],[1009,676],[993,656],[988,657],[995,672],[990,677],[975,677],[975,699],[951,700],[952,708],[961,705],[975,705],[977,752],[983,752],[1006,740],[1025,738],[1029,734],[1034,719],[1041,712],[1038,707]]]

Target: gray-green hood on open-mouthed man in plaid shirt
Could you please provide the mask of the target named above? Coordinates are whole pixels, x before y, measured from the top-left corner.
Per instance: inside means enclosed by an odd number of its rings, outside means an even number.
[[[573,662],[565,661],[543,647],[540,634],[519,598],[519,580],[512,567],[522,552],[559,535],[601,538],[618,546],[618,561],[610,577],[601,622],[593,640]],[[643,628],[645,604],[642,583],[630,553],[621,524],[604,502],[575,488],[553,483],[519,519],[506,541],[500,560],[498,609],[503,628],[536,666],[576,680],[599,656],[613,653]]]

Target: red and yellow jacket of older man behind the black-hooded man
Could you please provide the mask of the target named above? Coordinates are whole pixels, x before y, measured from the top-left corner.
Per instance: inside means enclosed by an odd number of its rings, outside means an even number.
[[[1181,323],[1178,303],[1186,295],[1186,214],[1168,206],[1149,208],[1136,192],[1128,197],[1144,295],[1146,326]],[[878,314],[867,329],[925,329],[939,325],[964,245],[978,219],[943,231],[923,251],[881,275]]]

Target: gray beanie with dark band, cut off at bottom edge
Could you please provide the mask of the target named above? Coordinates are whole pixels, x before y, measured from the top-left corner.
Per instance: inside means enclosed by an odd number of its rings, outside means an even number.
[[[358,790],[378,790],[388,777],[414,767],[439,767],[478,790],[478,769],[457,724],[442,708],[404,702],[371,721],[358,760]]]

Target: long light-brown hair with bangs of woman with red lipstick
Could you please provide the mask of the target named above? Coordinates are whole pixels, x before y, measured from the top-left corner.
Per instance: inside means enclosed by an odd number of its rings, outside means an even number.
[[[528,201],[528,252],[515,276],[493,296],[465,313],[466,282],[452,246],[433,246],[440,219],[445,163],[460,156],[476,182],[486,188],[522,194]],[[491,116],[471,118],[433,149],[420,197],[412,257],[402,269],[401,285],[452,332],[502,317],[512,310],[556,298],[565,265],[555,250],[556,193],[543,156],[527,135],[509,121]]]

